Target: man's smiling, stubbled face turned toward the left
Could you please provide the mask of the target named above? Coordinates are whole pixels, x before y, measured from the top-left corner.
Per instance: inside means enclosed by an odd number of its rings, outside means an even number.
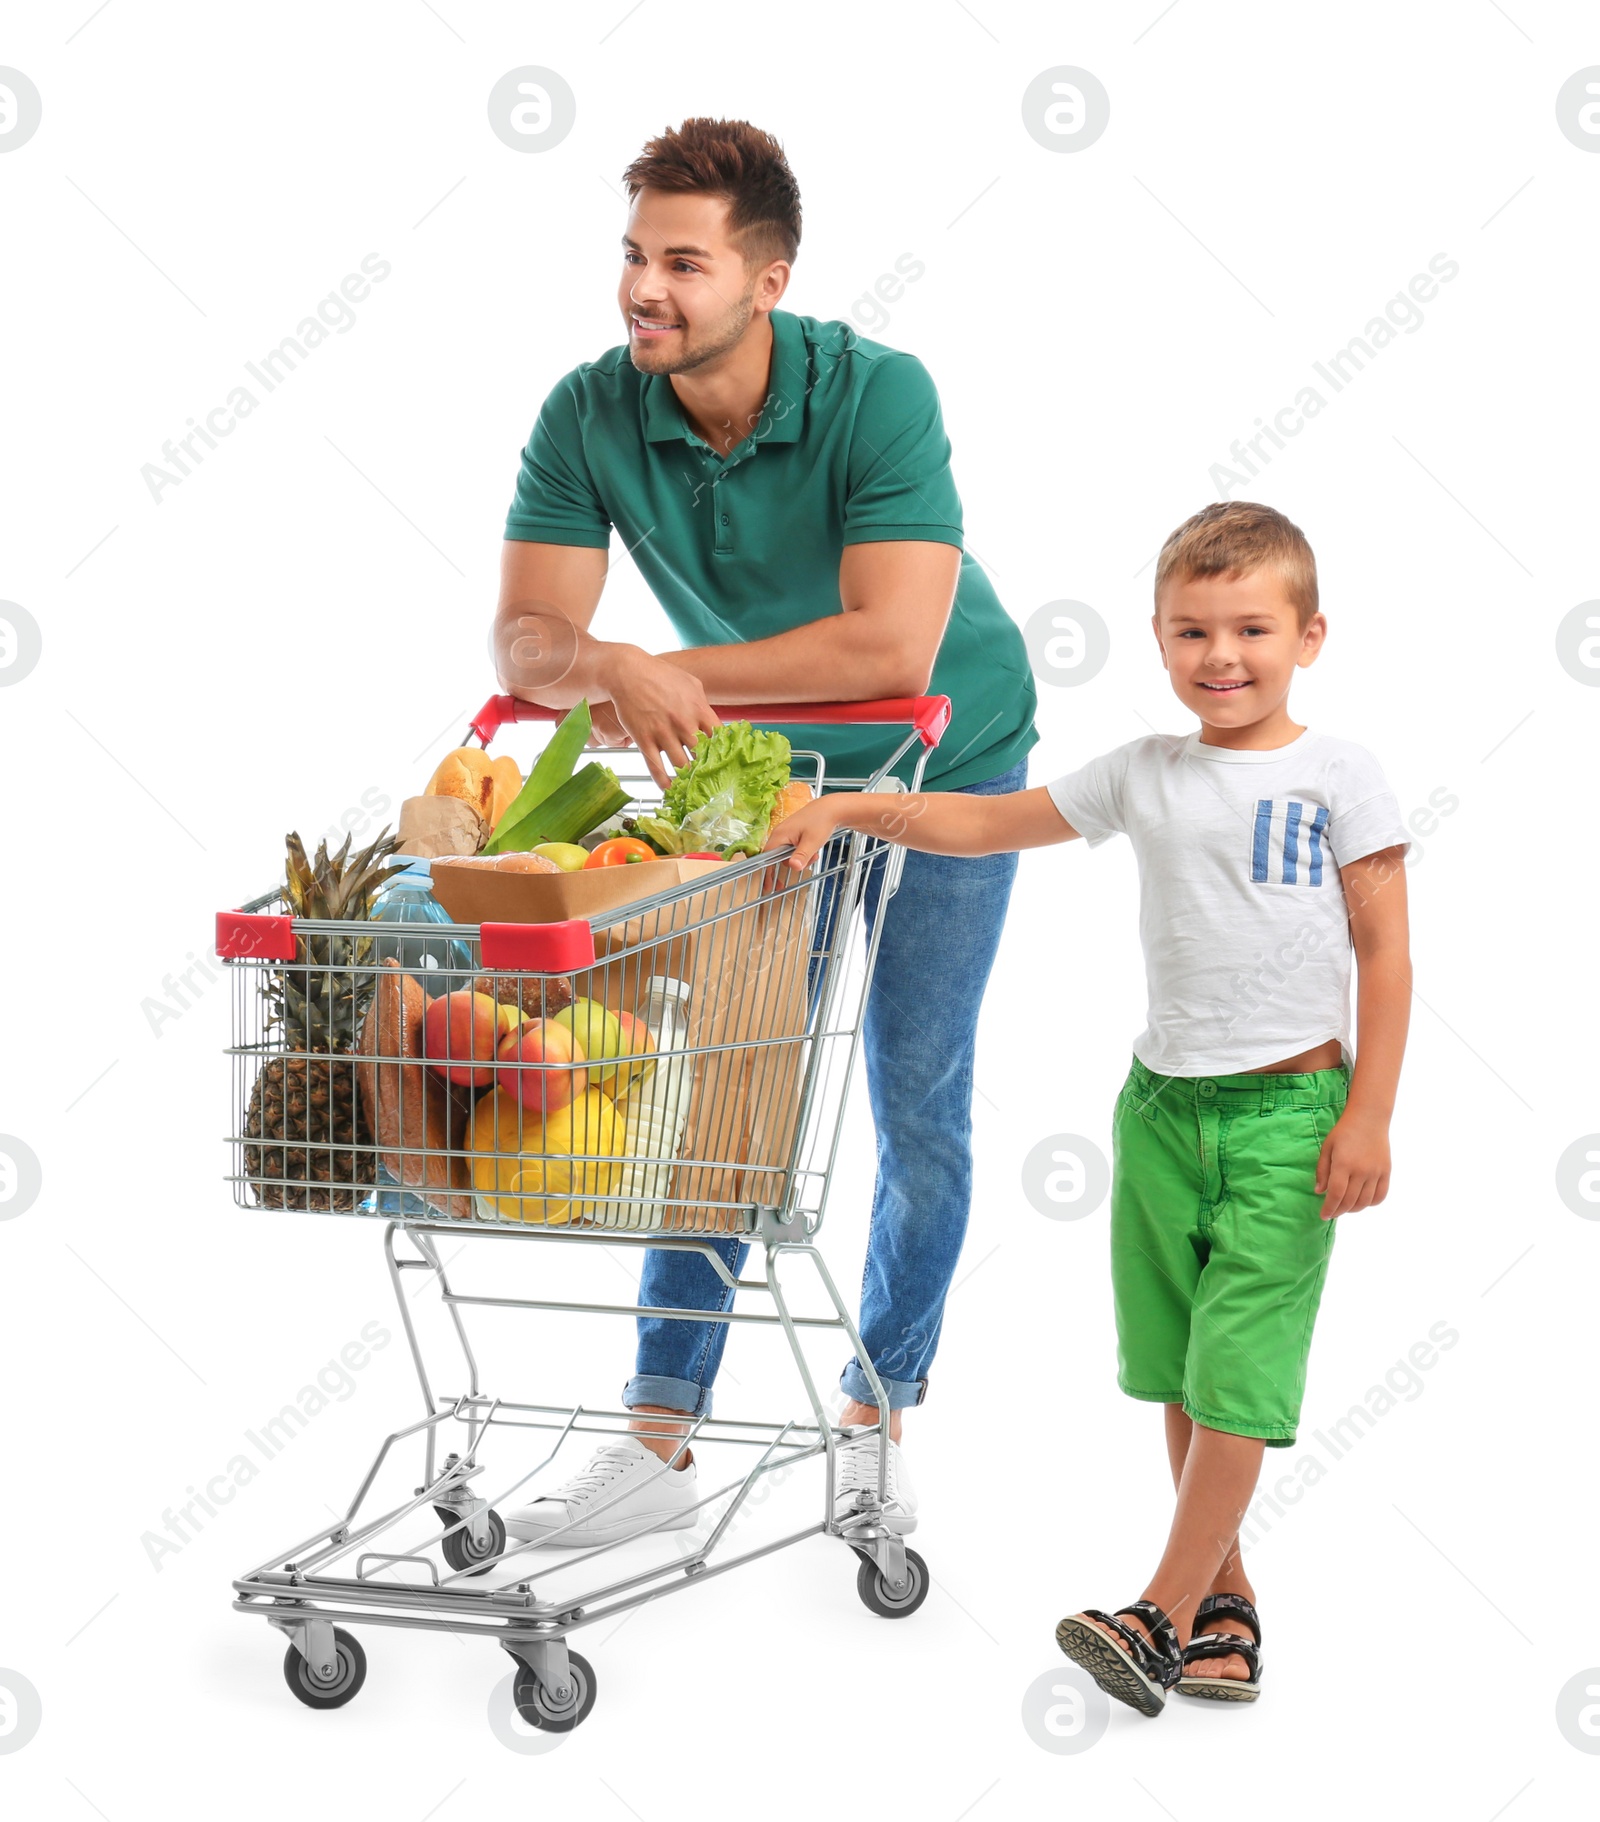
[[[641,374],[689,374],[736,348],[782,297],[784,261],[747,268],[722,197],[641,189],[621,242],[618,304]]]

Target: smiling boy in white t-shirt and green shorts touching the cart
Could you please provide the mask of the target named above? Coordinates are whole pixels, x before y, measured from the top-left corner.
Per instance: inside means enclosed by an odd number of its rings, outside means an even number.
[[[1117,1383],[1164,1405],[1177,1509],[1143,1598],[1055,1636],[1144,1715],[1174,1687],[1259,1693],[1239,1521],[1263,1447],[1296,1439],[1334,1221],[1389,1193],[1410,1002],[1400,809],[1372,754],[1288,716],[1327,636],[1305,536],[1206,507],[1161,550],[1152,625],[1195,732],[1010,796],[835,793],[771,842],[793,867],[835,829],[937,855],[1133,844],[1150,1011],[1112,1119]]]

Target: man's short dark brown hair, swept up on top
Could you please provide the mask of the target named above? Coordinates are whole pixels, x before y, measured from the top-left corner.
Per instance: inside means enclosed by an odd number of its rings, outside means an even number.
[[[800,251],[800,186],[771,133],[749,120],[696,117],[667,128],[621,173],[641,189],[700,189],[727,202],[727,230],[747,266]]]

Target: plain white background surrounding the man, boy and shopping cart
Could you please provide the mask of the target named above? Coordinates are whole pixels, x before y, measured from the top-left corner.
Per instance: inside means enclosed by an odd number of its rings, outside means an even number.
[[[1188,1822],[1239,1802],[1334,1817],[1381,1786],[1383,1815],[1593,1809],[1600,1760],[1562,1736],[1556,1696],[1600,1665],[1600,1226],[1556,1166],[1600,1126],[1600,696],[1556,629],[1600,596],[1600,157],[1554,102],[1596,62],[1595,9],[1558,0],[11,0],[0,64],[44,118],[0,157],[0,598],[44,656],[0,691],[0,1128],[44,1190],[0,1223],[0,1667],[40,1691],[44,1725],[0,1755],[0,1802],[111,1822],[530,1800],[643,1822],[1064,1802]],[[578,100],[539,155],[487,124],[521,64]],[[1072,155],[1021,113],[1059,64],[1112,98]],[[312,836],[363,793],[397,805],[490,692],[518,448],[552,381],[620,339],[618,173],[689,113],[785,142],[805,199],[789,306],[847,315],[897,257],[926,262],[887,322],[856,321],[931,368],[1011,614],[1077,599],[1112,632],[1093,681],[1041,683],[1035,782],[1185,731],[1146,630],[1161,537],[1312,361],[1432,255],[1460,264],[1421,328],[1234,488],[1321,561],[1330,636],[1294,712],[1372,747],[1403,811],[1458,798],[1410,871],[1392,1193],[1341,1226],[1301,1447],[1268,1456],[1268,1487],[1327,1459],[1312,1434],[1434,1325],[1460,1339],[1267,1514],[1254,1709],[1119,1707],[1073,1756],[1022,1724],[1064,1667],[1055,1620],[1132,1600],[1170,1514],[1159,1414],[1113,1383],[1106,1210],[1051,1221],[1021,1188],[1042,1137],[1110,1146],[1143,1013],[1126,844],[1024,858],[984,1004],[973,1226],[908,1425],[937,1578],[917,1618],[873,1620],[853,1563],[813,1540],[583,1634],[594,1716],[519,1758],[488,1729],[508,1669],[488,1643],[368,1629],[364,1693],[315,1715],[277,1634],[230,1611],[231,1576],[346,1501],[417,1390],[374,1224],[231,1206],[224,991],[159,1029],[149,1004],[177,1008],[164,977],[272,884],[284,829]],[[142,465],[374,251],[392,273],[354,328],[157,505]],[[605,629],[667,640],[625,561]],[[512,751],[527,763],[532,740]],[[846,1285],[867,1199],[856,1108],[826,1230]],[[395,1341],[354,1392],[153,1567],[162,1510],[370,1321]],[[734,1336],[720,1410],[798,1416],[760,1339]],[[554,1317],[488,1352],[492,1390],[610,1403],[631,1336]]]

